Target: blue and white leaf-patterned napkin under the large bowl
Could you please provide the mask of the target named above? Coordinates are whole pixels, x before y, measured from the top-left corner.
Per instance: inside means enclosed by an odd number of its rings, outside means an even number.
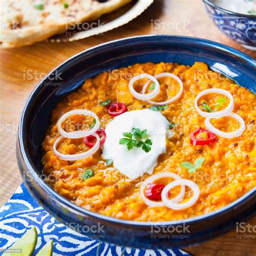
[[[18,238],[36,226],[38,240],[36,251],[50,239],[53,240],[53,255],[185,255],[190,254],[179,249],[140,250],[130,247],[120,247],[113,244],[99,243],[85,235],[60,224],[39,206],[22,184],[9,201],[0,208],[0,248],[10,247]],[[0,253],[1,254],[1,253]]]

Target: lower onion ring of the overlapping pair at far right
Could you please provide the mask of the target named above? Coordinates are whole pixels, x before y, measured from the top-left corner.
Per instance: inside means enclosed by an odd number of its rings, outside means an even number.
[[[241,134],[244,132],[245,130],[245,121],[244,119],[242,119],[242,117],[239,116],[239,114],[236,114],[236,113],[230,113],[230,114],[227,114],[225,117],[232,117],[236,120],[238,120],[238,122],[241,124],[239,129],[236,130],[236,131],[233,131],[233,132],[223,132],[223,131],[220,131],[219,129],[215,128],[210,120],[212,118],[206,118],[205,119],[205,126],[206,128],[215,133],[216,135],[220,136],[220,137],[224,137],[224,138],[227,138],[227,139],[231,139],[231,138],[234,138],[234,137],[238,137],[238,136],[241,136]]]

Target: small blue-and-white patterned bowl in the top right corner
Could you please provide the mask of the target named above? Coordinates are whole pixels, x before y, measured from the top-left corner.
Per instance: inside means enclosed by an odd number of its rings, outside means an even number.
[[[225,10],[213,0],[203,1],[208,15],[221,31],[245,48],[256,50],[256,16]]]

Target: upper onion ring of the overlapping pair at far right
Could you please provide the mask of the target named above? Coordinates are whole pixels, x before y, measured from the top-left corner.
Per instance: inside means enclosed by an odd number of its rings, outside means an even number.
[[[221,95],[224,95],[224,96],[228,97],[228,99],[230,99],[230,104],[228,104],[226,109],[221,110],[221,111],[212,112],[212,113],[207,113],[207,112],[204,112],[204,111],[200,110],[198,105],[197,105],[198,100],[202,96],[207,95],[209,93],[220,93]],[[203,116],[203,117],[206,117],[206,118],[220,118],[220,117],[226,116],[227,114],[230,114],[233,111],[233,109],[234,109],[234,99],[233,99],[233,96],[231,95],[231,93],[226,91],[226,90],[218,89],[218,88],[206,89],[204,91],[199,92],[196,99],[194,99],[194,106],[196,107],[196,110],[200,114],[200,116]]]

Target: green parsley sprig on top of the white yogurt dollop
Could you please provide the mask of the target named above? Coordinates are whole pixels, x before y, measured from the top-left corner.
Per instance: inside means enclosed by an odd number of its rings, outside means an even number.
[[[152,140],[147,138],[147,130],[140,130],[139,128],[133,128],[131,132],[124,132],[124,138],[119,140],[120,145],[126,145],[128,150],[133,147],[141,147],[146,153],[151,150]]]

